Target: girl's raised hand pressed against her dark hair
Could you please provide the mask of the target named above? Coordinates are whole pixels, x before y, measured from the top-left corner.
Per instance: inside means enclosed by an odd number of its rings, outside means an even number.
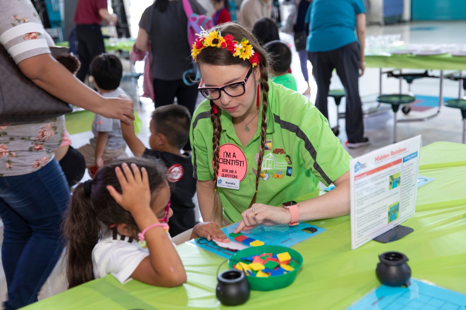
[[[111,185],[108,185],[107,189],[113,199],[123,209],[132,214],[141,208],[151,209],[151,190],[149,189],[149,178],[146,169],[143,167],[139,170],[134,163],[131,164],[131,168],[132,172],[126,163],[123,163],[122,168],[115,168],[122,194],[118,193]]]

